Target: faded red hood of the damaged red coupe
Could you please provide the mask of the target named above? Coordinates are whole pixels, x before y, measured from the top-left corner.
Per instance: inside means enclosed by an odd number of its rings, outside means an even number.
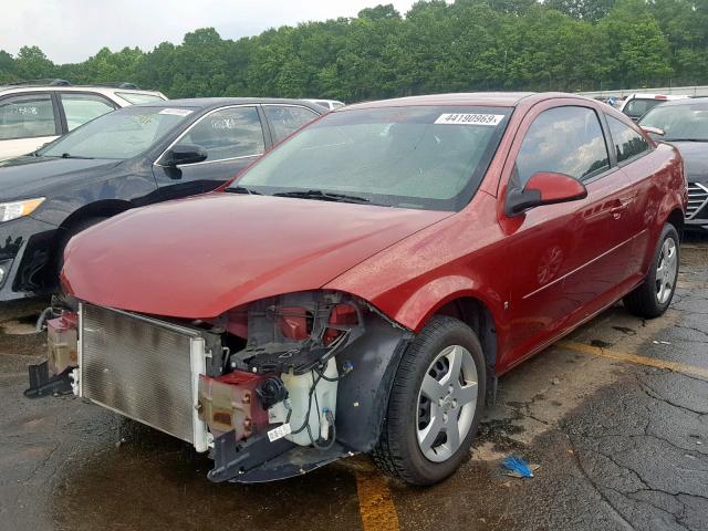
[[[319,289],[451,212],[227,192],[129,210],[71,240],[62,280],[80,300],[205,319]]]

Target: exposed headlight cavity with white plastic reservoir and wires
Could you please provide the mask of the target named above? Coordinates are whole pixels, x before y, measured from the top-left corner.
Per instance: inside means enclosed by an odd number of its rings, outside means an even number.
[[[233,479],[249,470],[252,456],[268,460],[298,447],[327,452],[325,460],[345,454],[335,445],[337,386],[355,365],[341,354],[364,334],[367,312],[342,293],[303,292],[251,303],[211,323],[227,331],[230,345],[222,373],[199,379],[199,418],[215,439],[211,479]],[[284,459],[280,473],[306,470],[323,457],[295,468]]]

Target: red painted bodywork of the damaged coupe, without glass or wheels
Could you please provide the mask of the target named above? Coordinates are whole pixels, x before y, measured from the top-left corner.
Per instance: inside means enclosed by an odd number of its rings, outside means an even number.
[[[542,111],[580,105],[639,129],[606,105],[562,94],[361,106],[445,104],[516,105],[478,192],[459,212],[212,194],[88,229],[69,246],[64,281],[81,300],[180,317],[215,317],[258,299],[326,288],[355,294],[414,331],[445,304],[472,298],[494,321],[496,371],[503,373],[642,281],[663,225],[685,210],[683,162],[647,137],[650,154],[583,190],[538,177],[545,198],[579,199],[508,217],[512,167]]]

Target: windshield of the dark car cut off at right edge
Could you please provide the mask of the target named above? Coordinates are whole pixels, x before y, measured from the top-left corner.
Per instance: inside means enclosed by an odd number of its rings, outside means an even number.
[[[708,142],[708,104],[667,105],[652,110],[639,125],[664,131],[660,140]]]

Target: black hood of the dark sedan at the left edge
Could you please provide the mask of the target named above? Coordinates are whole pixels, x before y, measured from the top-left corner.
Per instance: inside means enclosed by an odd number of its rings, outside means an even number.
[[[0,162],[0,199],[41,196],[45,188],[56,189],[62,179],[77,174],[110,169],[121,160],[101,158],[50,158],[24,156]]]

